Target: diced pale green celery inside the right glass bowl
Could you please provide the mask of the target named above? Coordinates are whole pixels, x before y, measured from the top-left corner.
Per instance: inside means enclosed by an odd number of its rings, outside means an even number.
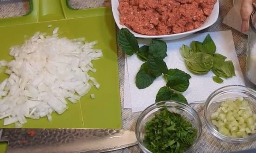
[[[225,136],[239,138],[256,133],[256,114],[243,97],[236,101],[227,99],[212,113],[211,119],[213,125]]]

